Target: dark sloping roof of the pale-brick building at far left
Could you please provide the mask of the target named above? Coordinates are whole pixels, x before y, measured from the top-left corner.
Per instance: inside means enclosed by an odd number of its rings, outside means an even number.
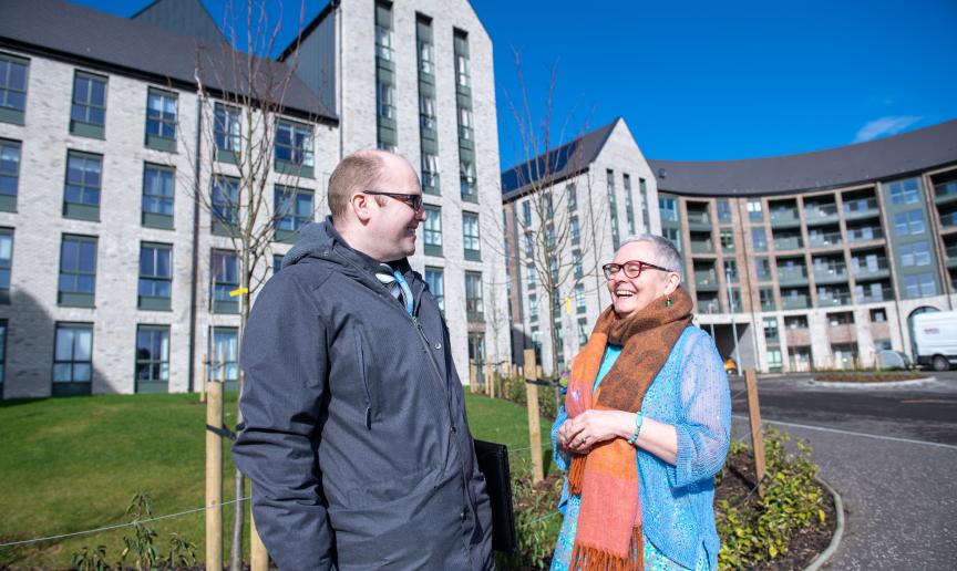
[[[146,81],[196,89],[194,74],[203,70],[204,85],[212,91],[245,91],[241,65],[245,58],[228,44],[210,44],[136,20],[121,18],[60,0],[0,1],[0,46],[103,68]],[[291,71],[282,63],[261,60],[257,82]],[[275,82],[275,80],[272,80]],[[274,94],[276,95],[276,94]],[[286,112],[328,123],[335,113],[322,110],[319,98],[292,76],[282,96]]]

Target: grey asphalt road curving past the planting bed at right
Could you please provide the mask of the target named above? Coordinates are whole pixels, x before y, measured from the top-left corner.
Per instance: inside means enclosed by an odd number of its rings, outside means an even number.
[[[744,383],[734,434],[748,439]],[[842,496],[844,538],[826,569],[957,569],[957,373],[879,387],[759,381],[762,419],[806,439]]]

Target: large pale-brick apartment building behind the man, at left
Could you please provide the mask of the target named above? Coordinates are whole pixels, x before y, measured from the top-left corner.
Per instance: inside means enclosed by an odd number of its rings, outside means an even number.
[[[388,40],[381,12],[393,15]],[[422,55],[426,21],[434,44]],[[302,56],[292,63],[297,45]],[[281,112],[263,127],[268,186],[286,214],[269,222],[261,276],[278,271],[302,225],[326,216],[326,181],[344,154],[392,148],[430,166],[430,222],[420,235],[428,251],[412,263],[447,310],[460,370],[470,350],[507,353],[483,321],[492,303],[483,291],[497,278],[482,243],[501,242],[484,212],[500,208],[491,53],[464,0],[401,9],[354,0],[331,2],[285,61],[265,62],[290,80]],[[235,207],[230,157],[248,144],[234,127],[247,115],[216,94],[236,89],[223,72],[236,56],[198,1],[160,0],[131,19],[55,0],[0,3],[3,398],[189,391],[204,354],[225,361],[235,382],[240,318],[229,293],[239,270],[223,220]],[[418,103],[430,56],[431,132],[420,128]],[[387,71],[398,86],[391,139],[390,103],[377,100]],[[197,95],[197,79],[213,101]],[[464,124],[465,107],[481,128]],[[203,121],[215,123],[208,144]],[[455,177],[466,159],[469,176]]]

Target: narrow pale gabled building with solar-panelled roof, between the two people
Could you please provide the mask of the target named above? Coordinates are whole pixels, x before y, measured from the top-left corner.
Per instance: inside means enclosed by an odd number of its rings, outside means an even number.
[[[513,357],[534,347],[563,370],[610,301],[600,266],[624,238],[661,231],[655,175],[618,118],[503,173],[502,200]]]

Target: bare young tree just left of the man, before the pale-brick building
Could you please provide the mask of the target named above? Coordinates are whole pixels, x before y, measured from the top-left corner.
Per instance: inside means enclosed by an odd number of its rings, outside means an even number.
[[[280,18],[272,18],[277,10]],[[305,2],[300,2],[297,33],[303,18]],[[228,255],[214,257],[210,262],[210,316],[214,305],[237,297],[241,340],[250,299],[271,276],[274,241],[295,235],[300,224],[311,220],[322,196],[298,185],[302,177],[311,178],[315,122],[323,110],[318,98],[305,97],[308,92],[296,76],[295,52],[285,63],[271,60],[281,48],[277,43],[280,4],[266,0],[227,1],[223,22],[228,43],[197,46],[196,139],[186,139],[187,133],[193,134],[189,129],[177,129],[182,147],[196,168],[193,173],[177,172],[177,176],[185,178],[181,187],[188,188],[192,200],[208,215],[212,233],[217,236],[214,243]],[[296,42],[298,51],[298,38]],[[237,49],[239,45],[245,51]],[[294,115],[296,118],[290,118]],[[235,291],[214,291],[213,282],[234,280],[234,268],[238,273]],[[241,395],[241,371],[238,383]],[[237,423],[241,421],[237,399]],[[238,469],[234,471],[234,485],[239,500],[245,481]],[[243,565],[244,511],[243,502],[237,501],[233,571]]]

